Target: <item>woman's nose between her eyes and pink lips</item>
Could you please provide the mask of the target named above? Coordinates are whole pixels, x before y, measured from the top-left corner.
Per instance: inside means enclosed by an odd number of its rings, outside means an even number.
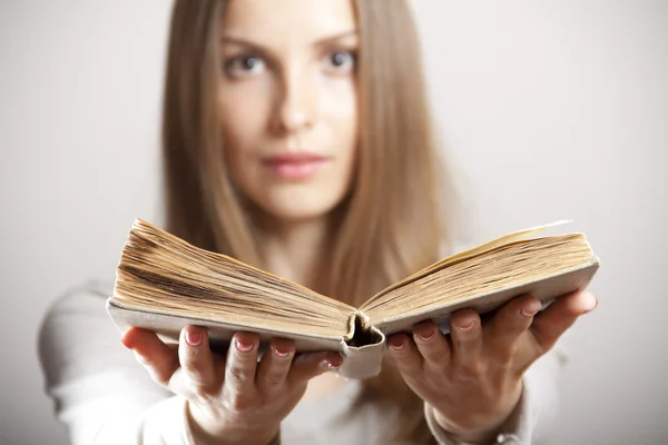
[[[275,112],[275,127],[282,132],[310,128],[317,119],[317,79],[307,69],[284,72]]]

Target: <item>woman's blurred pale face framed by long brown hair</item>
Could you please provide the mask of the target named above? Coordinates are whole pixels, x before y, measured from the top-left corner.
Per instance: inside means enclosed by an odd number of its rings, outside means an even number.
[[[230,0],[222,20],[219,107],[235,184],[285,220],[345,196],[357,145],[351,0]]]

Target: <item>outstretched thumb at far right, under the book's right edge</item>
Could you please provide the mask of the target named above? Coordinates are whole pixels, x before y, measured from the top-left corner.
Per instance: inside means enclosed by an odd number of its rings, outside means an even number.
[[[578,291],[557,298],[546,310],[533,320],[530,332],[533,334],[541,353],[544,354],[554,346],[559,337],[580,317],[598,305],[593,295]]]

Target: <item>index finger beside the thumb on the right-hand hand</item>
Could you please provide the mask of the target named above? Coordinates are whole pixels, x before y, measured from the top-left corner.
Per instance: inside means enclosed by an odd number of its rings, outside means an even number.
[[[484,343],[490,346],[485,350],[501,362],[510,363],[520,337],[529,329],[540,308],[540,300],[529,295],[511,299],[483,328]]]

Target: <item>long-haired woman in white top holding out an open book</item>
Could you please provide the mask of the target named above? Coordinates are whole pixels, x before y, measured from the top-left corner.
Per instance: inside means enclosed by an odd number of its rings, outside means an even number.
[[[399,0],[176,1],[167,229],[353,305],[436,260],[442,169],[418,53]],[[520,296],[484,325],[456,313],[449,338],[424,322],[360,384],[326,373],[338,355],[295,357],[281,338],[259,362],[249,333],[214,356],[196,326],[178,349],[126,332],[146,373],[102,300],[75,294],[49,315],[41,358],[77,444],[529,443],[552,405],[560,356],[547,353],[595,306],[574,294],[534,316]]]

